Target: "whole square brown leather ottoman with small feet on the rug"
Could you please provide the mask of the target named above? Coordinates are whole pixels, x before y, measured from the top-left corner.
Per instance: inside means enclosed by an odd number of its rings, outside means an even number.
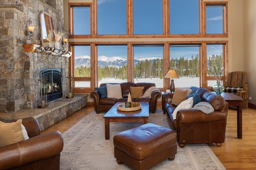
[[[116,134],[113,143],[116,162],[132,169],[150,169],[177,154],[177,133],[154,124]]]

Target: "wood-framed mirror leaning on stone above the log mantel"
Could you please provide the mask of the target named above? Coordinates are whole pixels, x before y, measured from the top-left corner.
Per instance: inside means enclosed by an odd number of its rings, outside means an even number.
[[[41,45],[48,46],[49,41],[45,39],[47,35],[49,34],[49,31],[52,32],[52,37],[54,41],[54,25],[53,25],[53,20],[52,16],[47,14],[46,12],[41,12],[40,14],[40,24],[41,24]]]

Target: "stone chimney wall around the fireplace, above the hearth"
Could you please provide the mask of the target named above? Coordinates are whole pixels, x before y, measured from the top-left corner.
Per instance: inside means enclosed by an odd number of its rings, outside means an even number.
[[[23,44],[41,44],[42,11],[52,15],[56,31],[64,32],[63,0],[0,1],[0,112],[37,107],[40,68],[62,69],[65,97],[69,58],[23,52]],[[32,40],[24,33],[29,19],[35,26]]]

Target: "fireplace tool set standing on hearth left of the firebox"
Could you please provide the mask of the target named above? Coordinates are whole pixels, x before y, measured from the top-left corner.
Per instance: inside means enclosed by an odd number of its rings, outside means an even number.
[[[38,90],[39,94],[37,99],[37,108],[47,108],[48,107],[48,96],[47,96],[47,80],[38,79]]]

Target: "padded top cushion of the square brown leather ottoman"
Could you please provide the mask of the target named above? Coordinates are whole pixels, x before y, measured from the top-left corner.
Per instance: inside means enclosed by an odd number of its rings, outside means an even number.
[[[175,131],[154,125],[144,124],[123,131],[113,138],[114,146],[137,160],[143,160],[175,145]]]

